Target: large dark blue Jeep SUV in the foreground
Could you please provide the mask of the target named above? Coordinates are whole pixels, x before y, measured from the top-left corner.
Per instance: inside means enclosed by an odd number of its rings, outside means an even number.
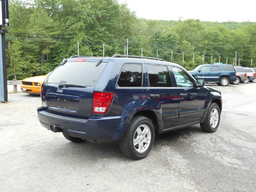
[[[42,126],[72,142],[119,140],[134,160],[148,155],[155,134],[194,124],[215,132],[222,109],[220,91],[180,65],[126,55],[65,59],[41,97]]]

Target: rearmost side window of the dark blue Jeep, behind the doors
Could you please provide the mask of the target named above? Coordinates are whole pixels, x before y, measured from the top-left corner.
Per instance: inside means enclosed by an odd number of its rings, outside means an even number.
[[[142,86],[142,65],[125,64],[122,67],[121,74],[118,79],[120,87],[141,87]]]

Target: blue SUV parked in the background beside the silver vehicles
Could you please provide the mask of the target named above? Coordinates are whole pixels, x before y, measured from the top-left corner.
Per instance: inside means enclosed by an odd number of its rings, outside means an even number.
[[[236,70],[229,64],[204,64],[189,72],[196,80],[216,82],[221,86],[227,86],[230,82],[236,81]]]

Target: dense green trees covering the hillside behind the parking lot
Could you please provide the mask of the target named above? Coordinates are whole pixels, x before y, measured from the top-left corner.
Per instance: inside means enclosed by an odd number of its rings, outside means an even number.
[[[256,66],[252,22],[158,21],[136,18],[117,0],[10,0],[8,79],[46,74],[63,58],[128,54],[163,58],[188,70],[204,63]],[[184,54],[183,54],[184,53]],[[194,54],[194,63],[193,63]],[[171,58],[172,55],[172,58]],[[183,61],[184,55],[184,61]]]

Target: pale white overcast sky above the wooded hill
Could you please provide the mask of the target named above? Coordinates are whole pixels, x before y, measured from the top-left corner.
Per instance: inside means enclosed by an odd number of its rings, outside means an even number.
[[[118,0],[138,18],[152,20],[256,22],[255,0]]]

